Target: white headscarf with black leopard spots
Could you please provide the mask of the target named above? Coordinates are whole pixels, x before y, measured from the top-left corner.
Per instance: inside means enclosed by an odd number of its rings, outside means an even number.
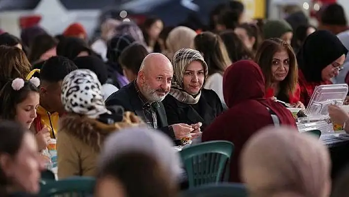
[[[102,85],[95,73],[78,69],[62,82],[61,100],[67,112],[98,118],[110,112],[106,109],[101,92]]]

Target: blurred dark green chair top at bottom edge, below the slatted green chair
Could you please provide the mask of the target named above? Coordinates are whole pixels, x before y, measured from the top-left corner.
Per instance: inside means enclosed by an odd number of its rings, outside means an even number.
[[[240,183],[204,185],[183,191],[181,197],[248,197],[247,189]]]

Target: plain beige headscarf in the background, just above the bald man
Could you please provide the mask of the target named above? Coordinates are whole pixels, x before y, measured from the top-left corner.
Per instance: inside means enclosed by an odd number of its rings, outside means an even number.
[[[174,28],[166,39],[168,51],[166,56],[170,59],[181,48],[192,48],[196,32],[188,27],[179,26]]]

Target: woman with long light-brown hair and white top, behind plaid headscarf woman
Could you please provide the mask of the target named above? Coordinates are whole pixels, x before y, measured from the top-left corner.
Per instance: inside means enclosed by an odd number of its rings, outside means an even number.
[[[225,104],[223,97],[223,73],[232,62],[224,42],[218,35],[204,32],[195,37],[194,47],[203,54],[205,62],[209,67],[209,77],[205,88],[215,91],[222,103]]]

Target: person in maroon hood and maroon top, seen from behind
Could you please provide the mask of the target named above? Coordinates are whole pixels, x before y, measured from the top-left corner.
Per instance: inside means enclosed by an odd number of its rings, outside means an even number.
[[[223,95],[229,109],[203,132],[203,141],[234,143],[229,182],[241,182],[238,171],[240,151],[251,135],[277,122],[296,127],[292,114],[282,104],[265,98],[264,81],[260,67],[253,61],[241,60],[228,67],[223,76]]]

